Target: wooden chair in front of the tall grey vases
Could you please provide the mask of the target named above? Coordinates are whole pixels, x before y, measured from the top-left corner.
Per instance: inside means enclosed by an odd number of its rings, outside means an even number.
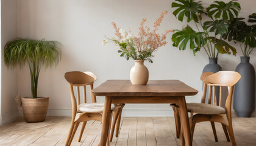
[[[191,129],[191,138],[193,139],[194,127],[198,122],[210,121],[213,129],[213,134],[215,136],[215,141],[218,141],[216,135],[215,123],[219,122],[222,125],[224,133],[226,135],[227,141],[232,142],[232,145],[235,146],[235,136],[233,134],[232,127],[232,116],[231,116],[231,103],[233,96],[233,88],[235,84],[240,80],[241,75],[238,72],[233,71],[219,71],[215,74],[213,72],[204,72],[201,75],[201,80],[204,82],[204,89],[202,92],[201,103],[187,103],[188,112],[190,112],[190,129]],[[205,103],[205,96],[207,92],[208,85],[208,104]],[[217,105],[217,100],[215,96],[215,87],[219,86],[219,106]],[[227,86],[229,94],[226,99],[225,108],[222,108],[222,88]],[[213,105],[212,102],[213,94]],[[174,109],[174,117],[176,122],[176,134],[182,136],[182,130],[180,130],[180,118],[179,118],[179,107],[172,105]],[[196,113],[196,114],[194,114]],[[229,132],[229,134],[227,133]],[[230,139],[229,139],[230,136]],[[181,139],[183,141],[183,139]],[[181,142],[183,143],[183,142]]]

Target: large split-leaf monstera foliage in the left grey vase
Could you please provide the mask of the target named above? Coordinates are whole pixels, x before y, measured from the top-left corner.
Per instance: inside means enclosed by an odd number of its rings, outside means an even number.
[[[187,23],[193,21],[196,27],[193,29],[185,26],[182,30],[175,30],[176,33],[172,35],[174,47],[185,50],[189,46],[194,55],[204,48],[210,58],[218,58],[219,54],[231,54],[231,52],[236,55],[236,49],[224,41],[222,35],[227,33],[230,21],[238,17],[240,11],[238,2],[215,1],[204,8],[201,1],[176,0],[172,2],[172,8],[176,8],[173,14],[179,21],[187,21]],[[210,21],[203,21],[202,18],[210,18]]]

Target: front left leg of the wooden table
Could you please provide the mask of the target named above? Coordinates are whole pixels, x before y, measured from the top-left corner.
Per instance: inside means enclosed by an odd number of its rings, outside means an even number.
[[[110,111],[111,108],[111,97],[105,97],[103,116],[102,116],[102,126],[101,126],[101,142],[100,146],[105,146],[107,142],[108,130],[110,126]]]

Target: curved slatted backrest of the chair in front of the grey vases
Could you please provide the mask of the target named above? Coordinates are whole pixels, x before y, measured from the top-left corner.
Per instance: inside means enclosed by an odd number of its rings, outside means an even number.
[[[201,80],[204,82],[204,89],[202,94],[201,103],[205,103],[206,90],[208,85],[208,104],[212,102],[213,96],[213,105],[217,105],[217,99],[215,95],[215,88],[219,86],[219,106],[222,105],[222,87],[227,86],[229,90],[229,95],[227,96],[225,108],[231,110],[231,102],[233,96],[233,87],[240,80],[241,75],[235,71],[219,71],[215,74],[213,72],[204,72],[201,75]],[[213,88],[213,90],[212,90]]]

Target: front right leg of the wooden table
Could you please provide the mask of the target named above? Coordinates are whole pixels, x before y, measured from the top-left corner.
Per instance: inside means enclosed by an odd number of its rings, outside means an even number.
[[[188,122],[188,111],[185,97],[182,96],[179,99],[179,107],[180,107],[180,123],[182,126],[183,138],[185,140],[185,144],[188,146],[192,146],[191,135],[190,135],[190,124]]]

